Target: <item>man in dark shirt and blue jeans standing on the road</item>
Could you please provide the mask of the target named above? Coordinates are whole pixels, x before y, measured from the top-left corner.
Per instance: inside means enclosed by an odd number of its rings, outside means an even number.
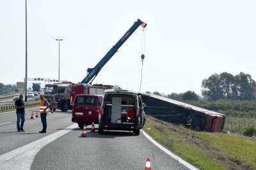
[[[20,97],[18,100],[15,101],[15,108],[16,108],[16,114],[17,114],[17,131],[18,132],[25,132],[25,130],[23,129],[23,125],[25,122],[25,105],[24,102],[22,100],[23,95],[20,94]],[[20,119],[21,119],[21,123],[20,123]]]

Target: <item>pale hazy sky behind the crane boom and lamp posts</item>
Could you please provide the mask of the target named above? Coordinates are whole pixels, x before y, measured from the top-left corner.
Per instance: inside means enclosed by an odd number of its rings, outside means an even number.
[[[256,79],[256,1],[27,0],[28,77],[81,82],[141,19],[139,27],[93,83],[141,91],[201,93],[213,73],[250,73]],[[25,0],[0,1],[0,82],[25,77]],[[31,84],[32,82],[29,82]]]

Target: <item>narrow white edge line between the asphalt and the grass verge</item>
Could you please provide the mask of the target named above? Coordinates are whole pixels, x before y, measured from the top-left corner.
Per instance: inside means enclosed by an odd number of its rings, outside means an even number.
[[[144,132],[143,130],[141,130],[141,131],[143,132],[143,135],[150,142],[152,142],[154,145],[156,145],[160,150],[164,151],[167,155],[169,155],[173,159],[177,160],[180,164],[188,167],[188,169],[198,170],[198,168],[196,168],[195,166],[192,166],[191,164],[186,162],[184,159],[182,159],[182,158],[178,157],[177,155],[175,155],[174,153],[172,153],[172,151],[167,150],[166,148],[164,148],[164,146],[162,146],[161,144],[157,143],[157,141],[155,141],[152,137],[150,137],[150,135],[148,135],[146,132]]]

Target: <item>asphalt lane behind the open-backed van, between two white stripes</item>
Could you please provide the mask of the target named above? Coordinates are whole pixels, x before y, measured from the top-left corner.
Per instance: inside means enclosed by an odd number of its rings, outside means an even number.
[[[88,130],[79,137],[76,128],[48,144],[36,155],[31,169],[145,169],[147,157],[152,169],[187,169],[159,150],[141,133]]]

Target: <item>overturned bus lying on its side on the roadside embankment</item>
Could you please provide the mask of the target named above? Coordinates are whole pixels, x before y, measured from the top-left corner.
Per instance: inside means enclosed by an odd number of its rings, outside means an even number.
[[[209,111],[177,100],[149,93],[141,93],[147,105],[145,112],[159,120],[180,123],[185,127],[207,132],[222,132],[225,114]]]

